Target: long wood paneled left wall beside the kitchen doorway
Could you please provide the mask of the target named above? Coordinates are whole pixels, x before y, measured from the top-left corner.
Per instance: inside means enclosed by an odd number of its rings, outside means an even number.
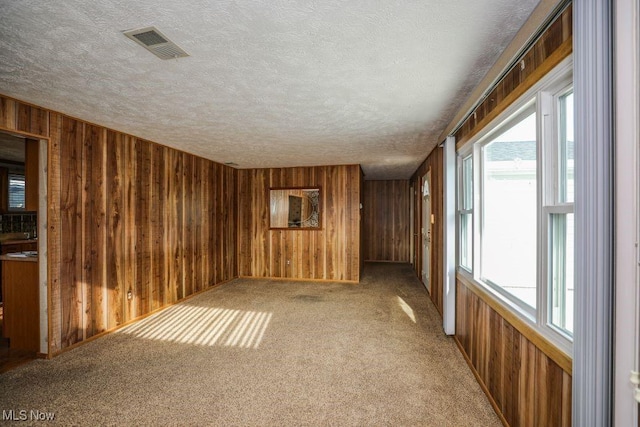
[[[237,277],[236,170],[2,97],[0,127],[49,138],[50,355]]]

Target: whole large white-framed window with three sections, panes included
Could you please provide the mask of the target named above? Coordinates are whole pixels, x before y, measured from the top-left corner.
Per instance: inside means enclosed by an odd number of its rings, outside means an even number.
[[[458,271],[570,352],[574,137],[566,60],[458,151]],[[475,178],[475,179],[474,179]]]

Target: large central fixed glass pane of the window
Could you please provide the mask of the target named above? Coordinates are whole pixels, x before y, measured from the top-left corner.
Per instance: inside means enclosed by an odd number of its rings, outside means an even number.
[[[536,115],[483,148],[482,278],[536,307]]]

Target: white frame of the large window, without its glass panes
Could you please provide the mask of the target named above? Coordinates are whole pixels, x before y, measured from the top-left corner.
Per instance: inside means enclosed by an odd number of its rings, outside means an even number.
[[[495,297],[502,305],[506,306],[519,318],[527,322],[540,335],[548,339],[567,355],[573,353],[572,337],[560,328],[551,324],[551,316],[548,310],[551,293],[551,280],[549,276],[549,215],[553,213],[573,213],[573,203],[557,203],[558,179],[558,129],[557,120],[549,122],[551,117],[558,117],[557,99],[567,92],[572,86],[573,60],[569,56],[536,82],[520,98],[507,107],[494,120],[474,135],[457,152],[457,177],[456,191],[461,193],[462,159],[473,156],[473,259],[472,269],[469,271],[460,266],[460,237],[456,239],[457,273],[483,287]],[[505,126],[523,118],[525,111],[535,104],[537,121],[537,260],[536,260],[536,308],[532,310],[514,296],[499,286],[492,285],[482,280],[482,152],[484,145],[491,142],[492,138],[502,133]],[[528,111],[530,114],[531,111]],[[458,201],[458,215],[456,230],[460,233],[461,197]],[[574,266],[575,268],[575,266]],[[575,278],[575,274],[574,274]]]

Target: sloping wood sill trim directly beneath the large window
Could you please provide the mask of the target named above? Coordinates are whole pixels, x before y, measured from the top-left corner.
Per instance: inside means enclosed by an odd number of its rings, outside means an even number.
[[[456,280],[464,284],[471,292],[476,294],[483,302],[495,310],[509,324],[511,324],[526,339],[531,341],[545,355],[558,364],[567,374],[571,375],[573,362],[570,356],[551,343],[547,338],[542,336],[538,331],[531,327],[526,321],[522,320],[518,315],[499,302],[487,290],[481,286],[469,281],[466,277],[456,274]]]

